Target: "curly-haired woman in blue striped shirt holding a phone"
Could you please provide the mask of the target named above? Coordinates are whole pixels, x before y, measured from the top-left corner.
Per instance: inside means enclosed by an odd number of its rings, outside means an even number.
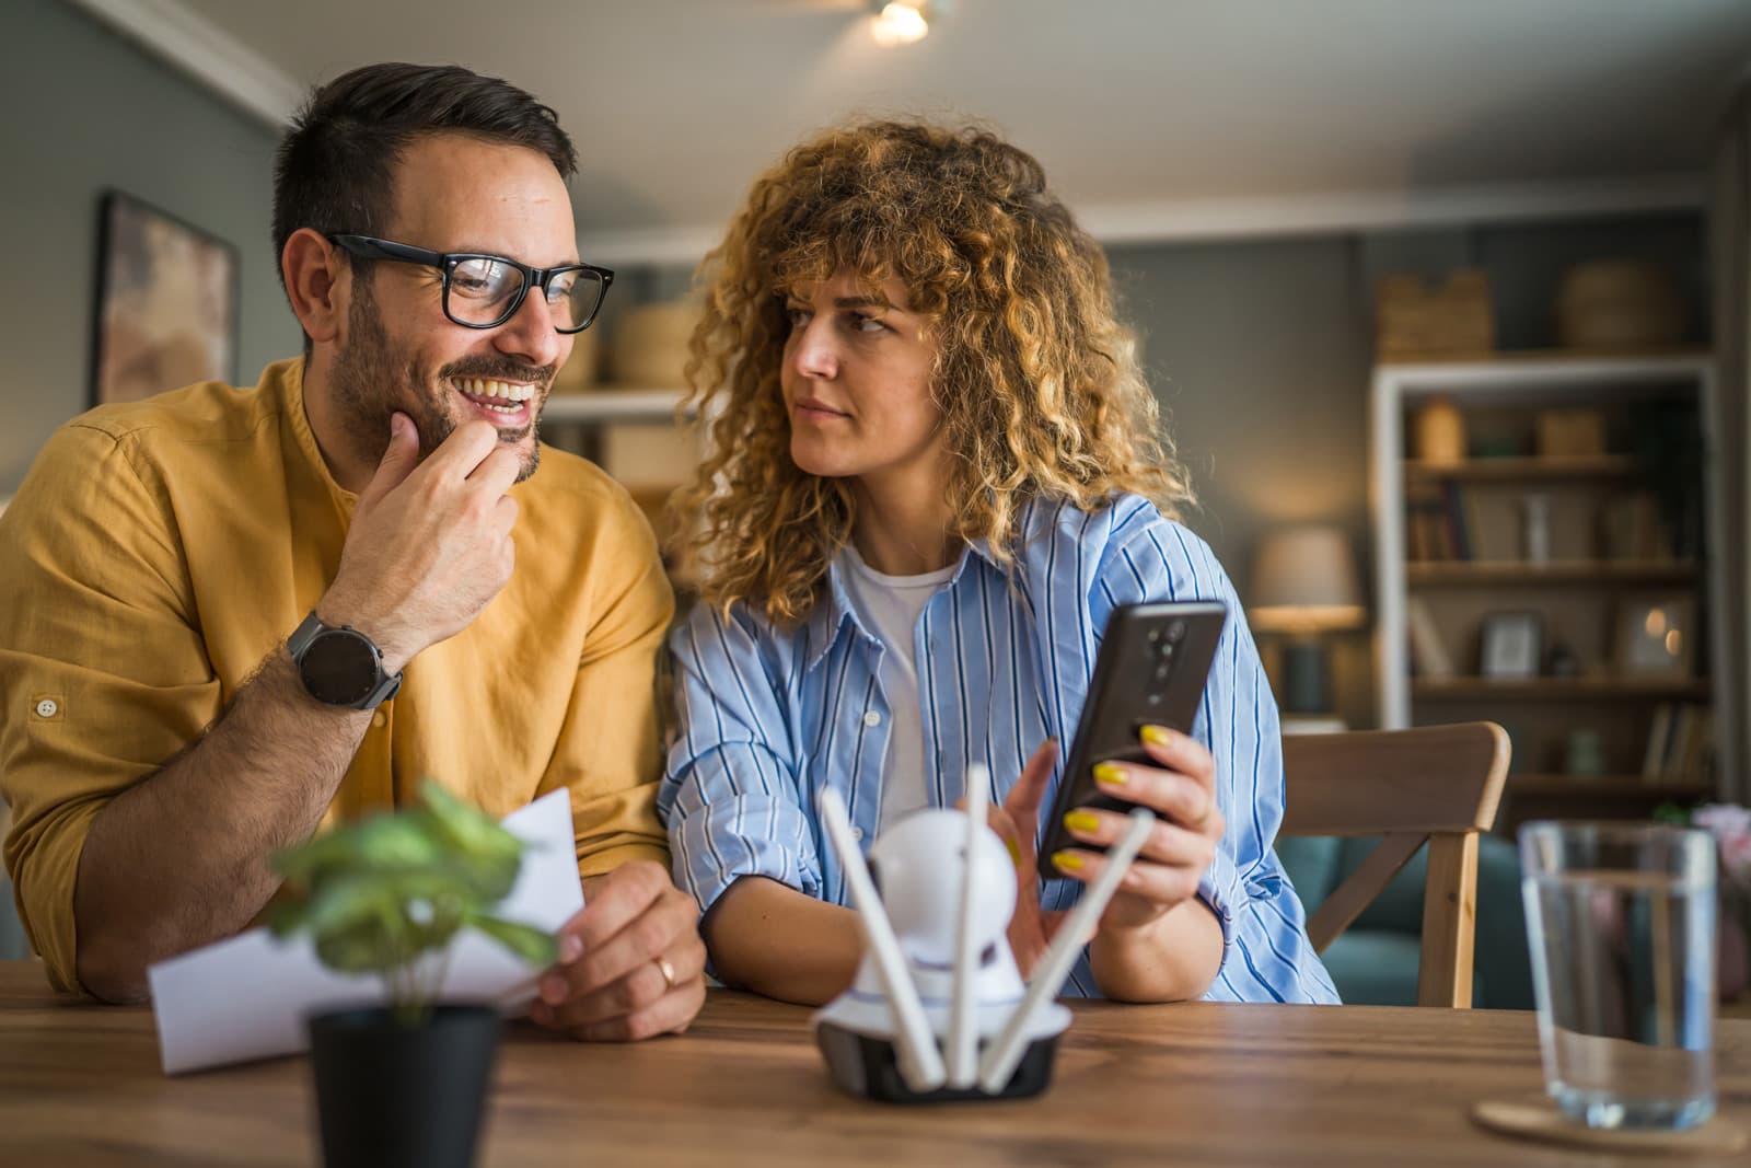
[[[823,846],[947,806],[967,763],[1023,869],[1023,972],[1101,867],[1038,881],[1038,811],[1114,606],[1220,599],[1191,735],[1103,783],[1159,814],[1068,991],[1334,1002],[1271,841],[1276,709],[1234,590],[1175,522],[1185,478],[1114,319],[1107,261],[1040,165],[982,130],[877,121],[791,151],[707,257],[693,334],[713,457],[702,602],[674,634],[679,728],[660,809],[716,974],[791,1002],[861,951]],[[1079,841],[1122,816],[1082,811]]]

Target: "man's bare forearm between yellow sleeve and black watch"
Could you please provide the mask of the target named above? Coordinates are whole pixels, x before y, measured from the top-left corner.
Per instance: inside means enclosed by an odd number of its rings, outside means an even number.
[[[369,721],[313,700],[275,650],[194,746],[91,821],[74,890],[81,984],[142,1000],[147,965],[249,925],[280,884],[270,853],[315,830]]]

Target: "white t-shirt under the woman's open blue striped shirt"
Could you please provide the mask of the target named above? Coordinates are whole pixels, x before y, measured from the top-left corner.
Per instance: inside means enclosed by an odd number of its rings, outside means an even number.
[[[886,651],[877,678],[888,697],[888,756],[881,769],[881,820],[877,830],[909,811],[930,806],[925,786],[925,714],[918,697],[918,653],[914,630],[925,604],[954,578],[954,564],[923,576],[886,576],[846,545],[844,585],[863,627]]]

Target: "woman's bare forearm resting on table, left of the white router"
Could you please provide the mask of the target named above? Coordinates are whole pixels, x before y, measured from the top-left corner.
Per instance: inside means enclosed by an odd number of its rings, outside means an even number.
[[[718,897],[702,932],[727,984],[804,1005],[842,993],[863,956],[856,912],[763,876]]]

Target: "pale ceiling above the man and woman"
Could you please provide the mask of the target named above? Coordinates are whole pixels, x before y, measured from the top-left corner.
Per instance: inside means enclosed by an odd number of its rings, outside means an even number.
[[[79,0],[268,117],[378,60],[553,105],[601,259],[688,257],[861,110],[975,116],[1107,238],[1693,205],[1751,0]]]

